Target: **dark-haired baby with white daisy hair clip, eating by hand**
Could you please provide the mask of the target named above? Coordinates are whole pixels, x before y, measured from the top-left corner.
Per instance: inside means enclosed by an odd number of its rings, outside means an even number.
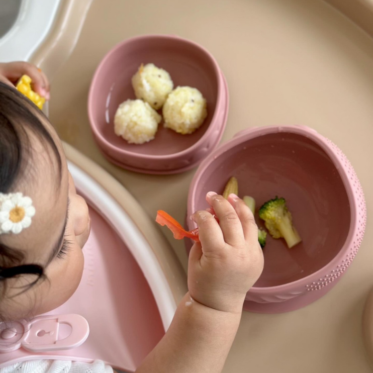
[[[49,98],[35,66],[0,64],[0,317],[29,318],[51,311],[77,289],[83,247],[90,233],[85,200],[67,168],[61,141],[43,113],[14,88],[27,74],[33,90]],[[191,248],[188,292],[173,321],[136,372],[221,372],[242,314],[246,292],[263,270],[253,214],[235,194],[206,195],[208,211],[192,219],[200,243]],[[98,357],[97,357],[98,358]],[[35,360],[10,372],[112,372],[101,361]]]

